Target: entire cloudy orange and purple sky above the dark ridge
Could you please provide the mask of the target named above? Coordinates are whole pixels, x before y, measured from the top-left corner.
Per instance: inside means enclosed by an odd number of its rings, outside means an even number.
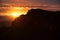
[[[31,8],[60,11],[60,0],[0,0],[0,16],[18,16]]]

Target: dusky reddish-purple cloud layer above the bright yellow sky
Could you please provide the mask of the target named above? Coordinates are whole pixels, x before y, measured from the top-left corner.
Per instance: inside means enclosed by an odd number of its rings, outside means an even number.
[[[60,0],[0,0],[0,7],[40,6],[43,9],[60,10]]]

